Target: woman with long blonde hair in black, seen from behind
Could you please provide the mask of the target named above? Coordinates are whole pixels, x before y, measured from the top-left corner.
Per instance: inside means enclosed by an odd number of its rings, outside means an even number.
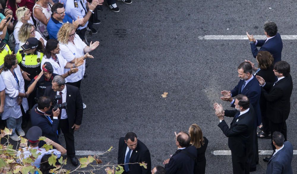
[[[202,131],[197,124],[189,127],[190,144],[197,148],[197,159],[194,166],[194,174],[205,174],[206,158],[205,151],[208,140],[203,137]]]

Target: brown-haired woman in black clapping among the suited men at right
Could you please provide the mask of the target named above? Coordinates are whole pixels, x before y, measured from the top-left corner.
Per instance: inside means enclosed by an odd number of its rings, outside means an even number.
[[[259,51],[256,60],[258,63],[258,67],[255,67],[251,61],[248,61],[255,71],[255,76],[261,76],[265,80],[265,83],[274,83],[276,80],[276,76],[273,72],[273,62],[274,59],[272,55],[268,51]],[[270,89],[266,91],[269,92]],[[262,118],[262,129],[260,132],[257,133],[259,138],[271,138],[270,136],[270,128],[269,128],[269,121],[268,117],[266,116],[266,100],[263,96],[260,97],[260,109],[261,109],[261,118]]]

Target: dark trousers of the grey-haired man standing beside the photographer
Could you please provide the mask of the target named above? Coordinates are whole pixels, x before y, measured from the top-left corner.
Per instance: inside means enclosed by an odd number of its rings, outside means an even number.
[[[73,135],[73,129],[72,131],[69,131],[69,122],[68,118],[61,119],[59,121],[59,127],[61,128],[65,142],[66,142],[66,150],[67,150],[67,156],[70,158],[75,156],[75,148],[74,148],[74,135]]]

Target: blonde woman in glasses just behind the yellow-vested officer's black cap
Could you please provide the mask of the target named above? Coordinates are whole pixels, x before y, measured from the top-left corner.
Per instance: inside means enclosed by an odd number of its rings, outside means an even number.
[[[31,23],[24,23],[20,27],[18,37],[20,40],[20,44],[19,44],[20,48],[25,44],[26,40],[29,39],[30,37],[35,37],[36,39],[40,40],[40,42],[43,44],[43,47],[45,47],[46,45],[46,40],[43,39],[43,37],[38,31],[35,30],[35,27]]]

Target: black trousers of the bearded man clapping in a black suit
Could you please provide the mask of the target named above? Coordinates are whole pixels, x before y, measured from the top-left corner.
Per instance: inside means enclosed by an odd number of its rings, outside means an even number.
[[[231,151],[233,174],[248,174],[249,160],[247,156],[237,156]]]

